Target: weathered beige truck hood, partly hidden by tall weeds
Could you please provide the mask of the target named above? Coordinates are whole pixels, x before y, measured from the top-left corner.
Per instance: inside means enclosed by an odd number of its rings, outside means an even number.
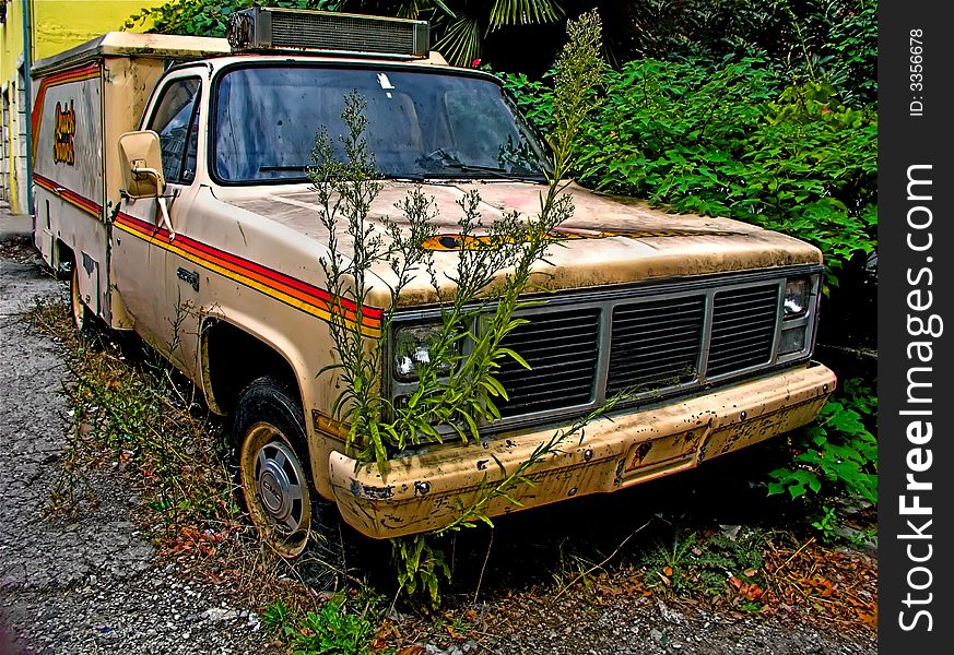
[[[388,181],[372,206],[369,218],[389,217],[399,224],[403,217],[394,203],[416,184]],[[534,215],[540,209],[542,184],[518,181],[440,182],[422,187],[433,196],[439,215],[438,237],[432,242],[438,271],[452,272],[456,264],[456,204],[472,189],[480,192],[485,224],[504,212]],[[259,188],[261,190],[261,188]],[[570,184],[575,212],[560,227],[565,237],[551,247],[547,261],[541,264],[540,282],[553,290],[584,289],[605,285],[671,277],[691,277],[717,273],[766,270],[781,266],[820,264],[822,253],[803,241],[759,227],[732,221],[691,214],[668,214],[646,202],[594,193]],[[292,228],[298,234],[327,242],[327,230],[319,222],[314,191],[304,187],[268,189],[263,193],[227,191],[220,200]],[[342,224],[344,221],[342,219]],[[344,252],[351,245],[344,225],[339,238]],[[382,279],[390,275],[386,265],[375,270]],[[384,298],[381,298],[384,300]],[[435,300],[426,276],[410,285],[401,305],[421,305]]]

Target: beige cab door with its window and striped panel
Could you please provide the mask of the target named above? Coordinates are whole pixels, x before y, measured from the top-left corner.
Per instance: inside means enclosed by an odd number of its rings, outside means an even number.
[[[202,81],[195,72],[184,71],[161,84],[143,129],[160,135],[166,190],[161,199],[122,198],[114,219],[111,262],[116,287],[136,331],[176,364],[185,364],[188,357],[180,352],[181,330],[189,322],[186,314],[193,308],[178,298],[169,266],[172,253],[178,248],[176,226],[185,223],[198,187],[195,179]]]

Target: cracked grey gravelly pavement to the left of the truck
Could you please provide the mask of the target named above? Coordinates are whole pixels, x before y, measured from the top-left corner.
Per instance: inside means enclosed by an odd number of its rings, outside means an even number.
[[[0,653],[261,652],[255,612],[155,557],[120,477],[91,476],[99,504],[79,521],[44,519],[69,436],[69,371],[20,317],[64,290],[27,243],[0,246]]]

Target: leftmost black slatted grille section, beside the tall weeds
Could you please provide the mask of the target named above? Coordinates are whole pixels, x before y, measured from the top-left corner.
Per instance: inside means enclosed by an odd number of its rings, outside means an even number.
[[[600,311],[566,310],[528,317],[504,345],[518,353],[531,369],[506,358],[497,380],[509,402],[497,404],[503,416],[546,412],[588,403],[593,393]]]

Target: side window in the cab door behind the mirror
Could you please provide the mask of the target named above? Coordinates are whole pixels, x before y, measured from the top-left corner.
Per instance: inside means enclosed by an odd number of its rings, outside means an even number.
[[[199,145],[198,78],[176,80],[162,92],[149,129],[160,135],[166,181],[190,183],[196,177]]]

